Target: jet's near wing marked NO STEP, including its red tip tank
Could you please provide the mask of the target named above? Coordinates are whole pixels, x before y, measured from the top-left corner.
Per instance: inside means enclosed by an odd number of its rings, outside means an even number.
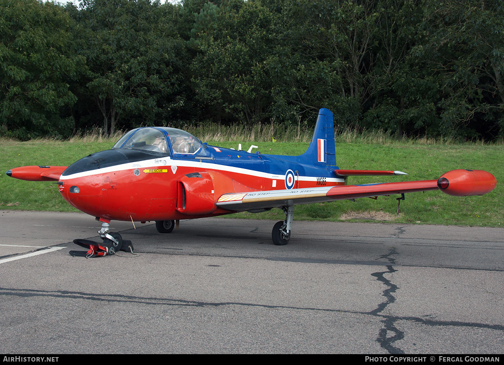
[[[453,170],[437,180],[229,193],[223,194],[216,204],[227,210],[245,211],[430,190],[442,190],[454,196],[470,196],[489,193],[495,185],[495,177],[489,172]]]

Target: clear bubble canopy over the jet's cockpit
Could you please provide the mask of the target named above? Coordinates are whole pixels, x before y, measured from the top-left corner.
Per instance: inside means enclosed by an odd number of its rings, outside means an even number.
[[[168,127],[142,127],[125,134],[112,147],[173,154],[196,154],[202,147],[201,141],[190,133]]]

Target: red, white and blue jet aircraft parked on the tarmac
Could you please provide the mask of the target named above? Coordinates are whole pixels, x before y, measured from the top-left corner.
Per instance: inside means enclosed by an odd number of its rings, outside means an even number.
[[[430,190],[483,195],[496,185],[491,173],[470,169],[452,170],[433,180],[347,185],[348,176],[406,173],[340,169],[333,114],[325,108],[319,111],[308,149],[299,156],[210,146],[182,130],[143,127],[125,134],[112,149],[68,167],[24,166],[7,175],[57,181],[67,202],[102,222],[98,233],[111,251],[122,245],[121,235],[109,232],[111,220],[155,221],[160,233],[169,233],[183,219],[280,208],[286,218],[274,225],[272,240],[286,245],[298,204]]]

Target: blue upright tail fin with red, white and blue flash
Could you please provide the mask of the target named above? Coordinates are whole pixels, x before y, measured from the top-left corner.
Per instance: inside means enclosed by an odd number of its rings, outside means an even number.
[[[336,147],[334,144],[334,120],[331,110],[322,108],[313,132],[313,138],[302,158],[315,165],[336,166]]]

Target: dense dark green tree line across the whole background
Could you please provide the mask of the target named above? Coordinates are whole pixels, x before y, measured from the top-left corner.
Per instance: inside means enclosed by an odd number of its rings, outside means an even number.
[[[500,0],[0,0],[0,135],[213,121],[504,134]]]

